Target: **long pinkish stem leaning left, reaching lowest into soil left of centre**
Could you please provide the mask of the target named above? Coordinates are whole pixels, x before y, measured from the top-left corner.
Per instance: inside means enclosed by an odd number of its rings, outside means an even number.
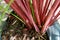
[[[37,27],[37,25],[35,24],[35,22],[34,22],[34,20],[33,20],[33,17],[32,17],[32,15],[31,15],[31,13],[28,11],[26,11],[25,10],[25,8],[24,8],[24,6],[23,6],[23,4],[21,3],[21,1],[20,0],[16,0],[16,2],[17,2],[17,4],[21,7],[21,9],[24,11],[24,13],[26,14],[26,16],[28,17],[28,19],[30,20],[30,22],[33,24],[33,26],[35,27],[35,30],[37,31],[37,32],[40,32],[39,31],[39,28]],[[19,4],[20,3],[20,4]],[[29,16],[28,16],[29,15]]]

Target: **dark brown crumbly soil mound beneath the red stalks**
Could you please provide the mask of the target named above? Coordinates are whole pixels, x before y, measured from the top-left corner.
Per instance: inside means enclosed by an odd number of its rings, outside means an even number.
[[[2,40],[49,40],[48,34],[43,36],[34,29],[28,30],[26,25],[15,17],[9,16],[2,32]]]

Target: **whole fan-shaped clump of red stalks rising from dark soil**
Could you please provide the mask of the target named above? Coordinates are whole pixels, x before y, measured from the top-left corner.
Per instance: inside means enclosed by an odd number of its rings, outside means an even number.
[[[5,1],[9,3],[10,0],[5,0]],[[43,34],[60,15],[60,12],[59,12],[56,16],[54,16],[55,11],[58,8],[58,5],[60,5],[60,0],[55,0],[53,6],[51,7],[48,13],[47,13],[48,7],[52,0],[46,0],[44,8],[43,8],[44,0],[32,0],[34,16],[36,17],[37,23],[34,21],[32,17],[32,12],[31,12],[29,1],[30,0],[18,0],[18,1],[14,0],[11,7],[19,15],[19,17],[22,18],[22,20],[26,23],[26,25],[29,28],[32,28],[34,26],[36,32],[40,32],[38,26],[43,26],[41,29],[41,33]],[[53,17],[54,19],[52,19]]]

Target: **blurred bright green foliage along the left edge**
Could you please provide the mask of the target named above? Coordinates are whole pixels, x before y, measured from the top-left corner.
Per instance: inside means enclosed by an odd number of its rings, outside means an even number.
[[[3,26],[6,25],[5,22],[3,21],[3,19],[5,20],[6,13],[8,14],[11,13],[10,5],[13,2],[13,0],[11,0],[9,4],[5,4],[3,2],[4,0],[0,0],[0,33],[2,32]]]

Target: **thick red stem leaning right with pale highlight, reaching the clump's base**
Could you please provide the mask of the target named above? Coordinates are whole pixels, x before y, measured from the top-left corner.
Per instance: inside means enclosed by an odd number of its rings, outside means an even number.
[[[50,22],[50,20],[53,16],[53,13],[54,13],[55,9],[57,8],[57,6],[59,5],[59,3],[60,3],[60,0],[55,0],[55,3],[53,4],[53,6],[51,7],[51,9],[49,11],[49,15],[47,17],[47,20],[42,27],[41,33],[45,33],[46,30],[48,29],[48,23]]]

